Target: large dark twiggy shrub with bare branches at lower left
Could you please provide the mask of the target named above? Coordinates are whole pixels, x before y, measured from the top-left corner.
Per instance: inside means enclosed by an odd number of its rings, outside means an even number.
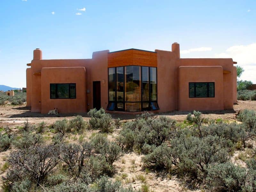
[[[60,161],[59,150],[54,145],[31,146],[28,150],[18,150],[11,153],[5,181],[10,183],[28,178],[34,183],[45,181],[54,167]]]

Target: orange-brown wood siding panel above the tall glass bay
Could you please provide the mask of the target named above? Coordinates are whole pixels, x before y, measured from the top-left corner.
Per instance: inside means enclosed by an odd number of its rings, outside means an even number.
[[[157,53],[140,50],[108,53],[108,67],[129,65],[157,67]]]

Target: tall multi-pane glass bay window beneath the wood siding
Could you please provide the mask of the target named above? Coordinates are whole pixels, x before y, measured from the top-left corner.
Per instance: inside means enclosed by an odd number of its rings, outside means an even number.
[[[108,77],[108,110],[135,112],[159,109],[156,68],[108,68]]]

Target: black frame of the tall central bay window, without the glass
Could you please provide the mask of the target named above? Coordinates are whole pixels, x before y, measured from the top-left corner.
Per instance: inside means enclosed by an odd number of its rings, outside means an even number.
[[[115,68],[115,74],[116,74],[116,80],[117,80],[117,70],[116,68],[119,68],[119,67],[123,67],[123,73],[125,73],[125,67],[127,66],[130,66],[130,65],[126,65],[126,66],[117,66],[117,67],[110,67],[110,68]],[[132,66],[138,66],[138,65],[132,65]],[[158,102],[157,102],[157,67],[150,67],[150,66],[139,66],[140,67],[140,83],[141,83],[141,101],[125,101],[125,74],[124,74],[124,78],[123,78],[123,89],[124,89],[124,96],[123,96],[123,101],[117,101],[117,85],[116,85],[116,92],[115,92],[115,101],[109,101],[109,93],[108,93],[108,106],[107,106],[107,110],[109,111],[124,111],[124,112],[140,112],[140,111],[125,111],[125,103],[140,103],[141,104],[141,111],[155,111],[155,110],[159,110],[159,106],[158,106]],[[149,79],[149,101],[143,101],[142,99],[142,67],[148,67],[148,79]],[[156,100],[151,100],[150,99],[150,68],[156,68]],[[109,68],[108,68],[108,74],[109,74]],[[109,85],[109,84],[108,84]],[[109,87],[108,87],[108,91],[109,91]],[[112,106],[113,106],[113,103],[114,103],[114,109],[111,110]],[[123,104],[123,108],[117,108],[117,103],[122,103]],[[148,109],[147,108],[143,108],[143,103],[148,103]],[[156,103],[156,106],[153,106],[153,103]],[[153,109],[153,108],[156,108],[156,109]],[[151,109],[149,109],[151,108]]]

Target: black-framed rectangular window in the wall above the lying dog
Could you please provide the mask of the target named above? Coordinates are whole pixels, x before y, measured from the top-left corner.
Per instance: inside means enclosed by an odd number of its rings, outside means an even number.
[[[50,84],[50,99],[76,99],[76,84]]]

